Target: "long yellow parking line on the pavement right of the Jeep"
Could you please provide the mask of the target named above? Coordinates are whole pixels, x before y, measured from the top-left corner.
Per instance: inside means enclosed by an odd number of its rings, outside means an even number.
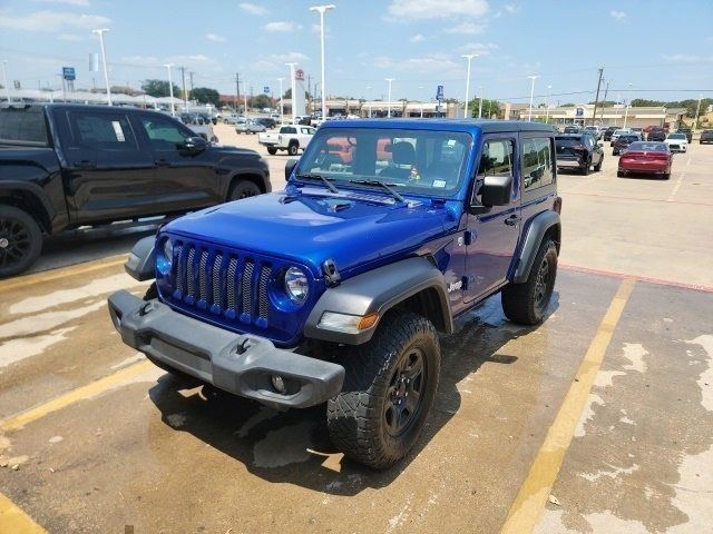
[[[622,312],[635,284],[636,280],[632,278],[622,280],[594,339],[589,344],[587,354],[577,369],[576,380],[569,387],[557,417],[547,431],[545,442],[537,453],[512,506],[510,506],[500,534],[528,534],[537,525],[572,443],[594,379],[602,367],[614,329],[622,317]]]

